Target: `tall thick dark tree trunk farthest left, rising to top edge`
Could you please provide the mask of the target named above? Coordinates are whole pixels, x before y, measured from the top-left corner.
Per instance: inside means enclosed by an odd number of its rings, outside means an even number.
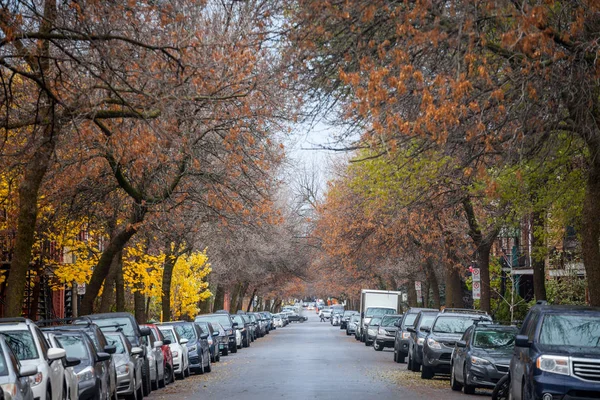
[[[40,32],[49,33],[56,19],[56,0],[44,2],[44,23],[40,26]],[[39,61],[30,65],[35,76],[44,81],[50,71],[50,42],[44,40],[38,48]],[[38,60],[37,57],[32,57]],[[7,278],[7,287],[4,295],[6,306],[5,317],[19,317],[23,310],[23,295],[27,271],[31,262],[31,249],[35,241],[35,227],[37,222],[39,190],[50,166],[54,148],[56,146],[56,130],[54,126],[54,103],[45,98],[40,103],[46,103],[39,110],[43,119],[52,123],[46,125],[42,130],[41,143],[31,155],[23,169],[23,180],[19,184],[19,211],[17,215],[17,235],[15,237],[15,248],[10,263],[10,271]]]

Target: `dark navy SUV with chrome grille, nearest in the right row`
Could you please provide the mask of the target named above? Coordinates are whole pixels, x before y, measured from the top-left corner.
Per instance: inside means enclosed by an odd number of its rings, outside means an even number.
[[[533,306],[509,374],[514,400],[600,398],[600,308]]]

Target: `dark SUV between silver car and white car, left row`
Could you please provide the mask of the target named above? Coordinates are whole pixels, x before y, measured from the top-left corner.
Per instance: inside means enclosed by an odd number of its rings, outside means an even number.
[[[92,314],[86,316],[91,319],[101,330],[115,331],[119,330],[125,335],[132,346],[141,348],[142,354],[142,390],[144,396],[148,396],[152,390],[150,381],[150,360],[146,354],[146,350],[142,344],[142,337],[150,335],[150,330],[145,327],[140,327],[132,314],[128,312],[112,312],[105,314]]]

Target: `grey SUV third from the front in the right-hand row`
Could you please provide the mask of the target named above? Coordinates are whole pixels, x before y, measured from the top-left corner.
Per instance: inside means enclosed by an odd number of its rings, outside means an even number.
[[[470,312],[441,312],[433,321],[423,342],[422,379],[431,379],[436,373],[450,373],[450,360],[456,342],[475,321],[492,321],[487,314]]]

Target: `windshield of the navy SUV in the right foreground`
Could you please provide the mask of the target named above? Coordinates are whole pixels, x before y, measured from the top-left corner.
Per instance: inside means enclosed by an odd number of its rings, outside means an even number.
[[[540,344],[600,347],[600,315],[546,315],[542,322]]]

